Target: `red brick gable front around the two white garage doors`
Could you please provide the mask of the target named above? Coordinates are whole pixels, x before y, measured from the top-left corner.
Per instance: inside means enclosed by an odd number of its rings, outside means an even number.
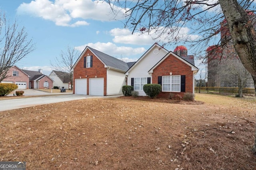
[[[84,57],[88,56],[88,54],[92,55],[92,67],[84,68]],[[76,64],[73,76],[73,94],[75,94],[76,90],[75,79],[87,78],[87,95],[89,95],[89,78],[95,78],[95,76],[97,76],[97,78],[104,78],[104,96],[106,96],[107,68],[104,68],[104,64],[95,55],[93,55],[93,53],[89,49],[84,53],[84,56]]]

